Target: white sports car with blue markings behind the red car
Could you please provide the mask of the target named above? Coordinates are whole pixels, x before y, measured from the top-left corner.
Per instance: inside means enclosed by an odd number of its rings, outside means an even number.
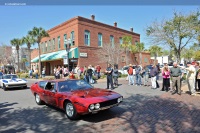
[[[20,79],[16,74],[0,76],[0,87],[6,91],[9,88],[27,88],[27,80]]]

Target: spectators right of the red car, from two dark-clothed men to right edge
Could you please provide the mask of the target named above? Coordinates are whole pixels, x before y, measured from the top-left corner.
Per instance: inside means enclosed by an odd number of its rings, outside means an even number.
[[[107,75],[107,89],[109,89],[109,85],[111,86],[111,89],[113,89],[114,86],[117,87],[117,67],[114,66],[112,68],[111,64],[108,64],[105,73]],[[148,68],[147,66],[144,66],[144,68],[142,68],[140,65],[133,66],[132,64],[129,64],[127,73],[128,85],[143,85],[147,87],[151,86],[151,89],[160,88],[158,79],[160,77],[159,75],[161,75],[163,79],[161,91],[168,92],[169,90],[171,90],[172,95],[176,93],[178,95],[181,95],[182,80],[184,74],[186,74],[185,80],[187,81],[190,95],[196,95],[196,91],[200,91],[200,67],[199,62],[197,61],[187,62],[187,67],[182,68],[178,66],[176,62],[173,63],[173,67],[171,68],[169,68],[168,64],[165,64],[162,69],[160,69],[158,65],[153,65],[152,68]],[[171,87],[170,80],[172,81]]]

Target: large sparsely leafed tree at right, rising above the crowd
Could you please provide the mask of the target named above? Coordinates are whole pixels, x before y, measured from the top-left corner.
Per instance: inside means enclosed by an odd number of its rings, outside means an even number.
[[[187,45],[197,41],[200,33],[199,11],[183,15],[174,12],[172,19],[154,22],[146,30],[154,44],[169,46],[180,63],[181,51]]]

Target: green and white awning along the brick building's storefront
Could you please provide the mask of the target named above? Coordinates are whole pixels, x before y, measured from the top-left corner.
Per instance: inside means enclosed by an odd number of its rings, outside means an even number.
[[[67,54],[66,50],[60,50],[57,52],[42,54],[40,55],[40,58],[42,62],[45,62],[45,61],[62,59],[64,56],[66,56],[66,54]],[[70,49],[69,59],[70,58],[79,58],[78,47]],[[39,56],[31,60],[31,62],[38,62],[38,61],[39,61]]]

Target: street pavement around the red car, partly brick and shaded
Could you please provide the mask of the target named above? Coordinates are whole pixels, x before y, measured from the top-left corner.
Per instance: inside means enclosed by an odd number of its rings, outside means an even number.
[[[161,88],[128,86],[120,79],[114,91],[124,96],[121,105],[93,115],[69,120],[59,109],[35,103],[27,89],[0,89],[1,133],[199,133],[200,97],[162,92]],[[159,81],[161,83],[161,81]],[[106,88],[99,81],[95,87]],[[161,85],[160,85],[161,86]]]

